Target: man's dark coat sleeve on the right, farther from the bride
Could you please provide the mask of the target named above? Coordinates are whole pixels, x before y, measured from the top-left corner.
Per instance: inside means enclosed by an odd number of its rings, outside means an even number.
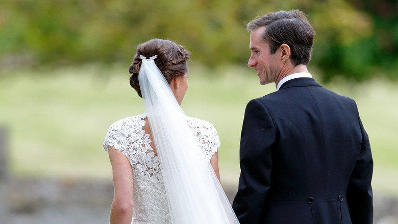
[[[358,120],[362,132],[362,144],[347,188],[347,204],[353,224],[373,223],[373,194],[370,185],[373,173],[373,160],[369,138],[363,128],[359,115]]]

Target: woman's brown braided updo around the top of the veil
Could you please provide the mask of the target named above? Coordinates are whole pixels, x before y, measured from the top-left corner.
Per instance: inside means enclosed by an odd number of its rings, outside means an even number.
[[[168,83],[170,83],[173,78],[183,76],[188,72],[187,60],[189,60],[190,55],[183,46],[163,39],[152,39],[139,44],[133,63],[130,65],[129,72],[132,74],[130,76],[130,85],[137,91],[138,96],[141,98],[141,89],[138,82],[138,74],[142,62],[140,55],[146,58],[158,55],[155,59],[155,64]]]

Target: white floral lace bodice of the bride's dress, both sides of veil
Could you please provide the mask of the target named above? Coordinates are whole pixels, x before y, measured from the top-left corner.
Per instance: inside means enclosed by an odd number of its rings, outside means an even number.
[[[143,114],[113,123],[103,146],[105,150],[113,146],[130,161],[134,186],[132,223],[171,223],[159,159],[151,147],[150,135],[142,128],[145,117]],[[204,157],[210,162],[220,147],[216,129],[207,121],[186,119]]]

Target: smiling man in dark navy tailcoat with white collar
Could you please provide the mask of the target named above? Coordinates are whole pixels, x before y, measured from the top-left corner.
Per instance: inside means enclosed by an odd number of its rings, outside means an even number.
[[[314,31],[306,16],[268,13],[247,30],[247,65],[278,91],[245,110],[233,203],[240,223],[372,223],[368,136],[354,100],[308,73]]]

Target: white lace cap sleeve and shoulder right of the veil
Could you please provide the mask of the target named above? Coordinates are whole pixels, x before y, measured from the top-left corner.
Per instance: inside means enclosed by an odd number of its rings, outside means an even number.
[[[206,158],[210,161],[211,156],[217,152],[221,145],[217,130],[207,121],[188,117],[188,124],[193,131],[193,135],[198,138],[200,146]]]

